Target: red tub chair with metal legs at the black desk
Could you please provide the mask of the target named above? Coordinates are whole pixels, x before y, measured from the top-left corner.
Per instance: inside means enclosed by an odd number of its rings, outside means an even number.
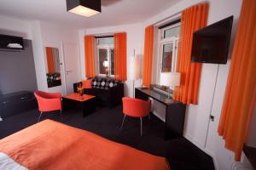
[[[149,116],[151,108],[150,100],[144,101],[142,99],[133,99],[133,98],[123,98],[123,112],[124,112],[124,119],[122,122],[122,127],[125,122],[126,116],[132,117],[140,117],[141,120],[141,136],[143,136],[143,117]]]

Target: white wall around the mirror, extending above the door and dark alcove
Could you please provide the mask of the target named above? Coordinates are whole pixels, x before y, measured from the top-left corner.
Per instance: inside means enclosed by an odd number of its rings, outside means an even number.
[[[62,92],[64,94],[65,84],[62,86],[48,88],[46,80],[46,56],[44,47],[55,47],[59,49],[60,61],[63,62],[61,42],[79,42],[79,31],[68,26],[58,26],[53,23],[39,20],[20,20],[17,18],[0,15],[2,34],[20,36],[32,40],[32,48],[37,76],[38,89],[49,92]],[[80,65],[78,65],[80,71]],[[61,65],[61,77],[64,77],[64,68]],[[79,73],[79,77],[81,77]]]

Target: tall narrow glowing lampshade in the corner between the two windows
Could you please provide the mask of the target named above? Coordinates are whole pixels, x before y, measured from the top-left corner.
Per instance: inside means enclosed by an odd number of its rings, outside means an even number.
[[[140,77],[139,61],[139,58],[136,56],[130,57],[130,80],[137,80]]]

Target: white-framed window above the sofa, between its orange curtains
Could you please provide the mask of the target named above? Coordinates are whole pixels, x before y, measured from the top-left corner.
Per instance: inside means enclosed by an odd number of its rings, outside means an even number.
[[[100,76],[114,75],[113,37],[97,38],[97,70]]]

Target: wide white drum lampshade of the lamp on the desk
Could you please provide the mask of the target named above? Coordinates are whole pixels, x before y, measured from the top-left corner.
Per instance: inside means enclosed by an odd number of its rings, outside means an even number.
[[[174,88],[180,84],[179,72],[162,72],[160,73],[160,85]]]

